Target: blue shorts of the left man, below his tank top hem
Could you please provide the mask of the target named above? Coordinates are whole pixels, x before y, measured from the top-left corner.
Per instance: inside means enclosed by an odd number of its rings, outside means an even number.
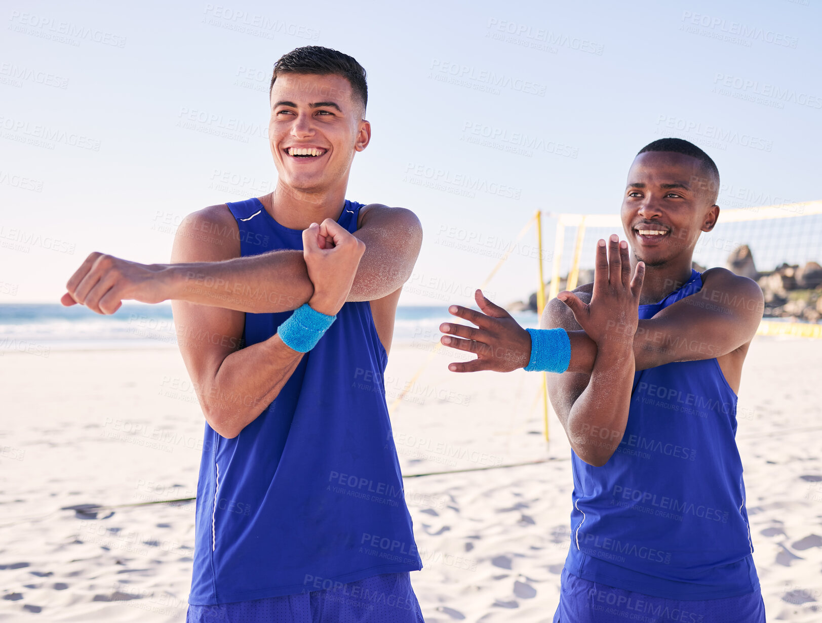
[[[424,623],[408,572],[335,588],[188,607],[186,623]]]

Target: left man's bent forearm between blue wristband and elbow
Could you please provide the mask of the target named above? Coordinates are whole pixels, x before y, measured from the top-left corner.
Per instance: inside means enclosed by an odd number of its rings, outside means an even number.
[[[279,335],[231,353],[199,388],[205,419],[224,437],[239,435],[279,395],[300,359]]]

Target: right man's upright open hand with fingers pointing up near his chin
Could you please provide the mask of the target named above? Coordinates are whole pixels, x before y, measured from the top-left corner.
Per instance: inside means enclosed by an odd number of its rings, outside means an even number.
[[[631,277],[628,243],[620,242],[617,234],[612,234],[607,253],[605,241],[597,242],[591,302],[584,303],[568,291],[559,293],[556,298],[570,308],[576,321],[600,350],[610,346],[633,348],[640,321],[644,275],[645,265],[640,261]]]

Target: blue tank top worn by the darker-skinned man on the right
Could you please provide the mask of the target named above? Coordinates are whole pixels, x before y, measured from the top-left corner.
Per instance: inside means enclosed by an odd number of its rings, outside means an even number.
[[[640,319],[697,293],[702,275]],[[711,344],[687,345],[695,356]],[[607,464],[571,451],[570,573],[615,588],[683,600],[759,588],[737,450],[737,395],[716,358],[636,372],[625,435]]]

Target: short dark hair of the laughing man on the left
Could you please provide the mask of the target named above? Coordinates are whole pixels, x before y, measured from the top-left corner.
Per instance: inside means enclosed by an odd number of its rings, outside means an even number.
[[[268,89],[269,98],[277,76],[287,73],[342,76],[349,81],[354,93],[363,104],[363,113],[365,112],[368,104],[365,69],[357,62],[357,59],[348,54],[331,48],[323,48],[321,45],[306,45],[283,54],[274,63],[274,72],[271,75],[271,85]]]

